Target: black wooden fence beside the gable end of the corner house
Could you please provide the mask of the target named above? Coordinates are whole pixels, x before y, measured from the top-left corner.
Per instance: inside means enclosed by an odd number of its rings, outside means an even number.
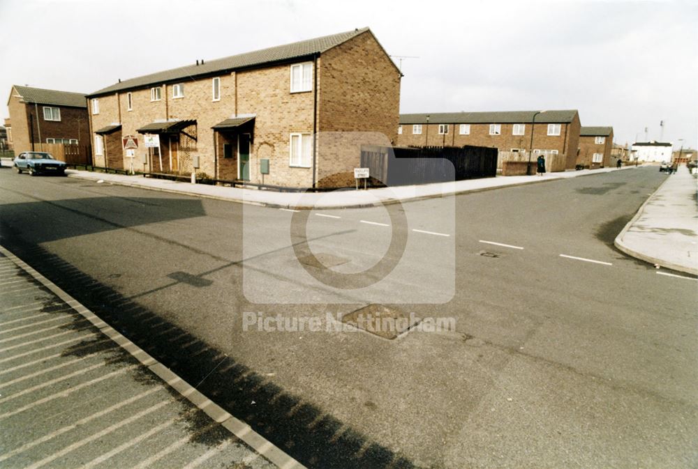
[[[443,183],[496,176],[497,148],[364,146],[361,166],[372,185]]]

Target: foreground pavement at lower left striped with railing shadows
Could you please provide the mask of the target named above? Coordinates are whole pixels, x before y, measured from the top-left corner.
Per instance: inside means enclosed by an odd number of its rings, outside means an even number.
[[[303,466],[0,247],[0,467]]]

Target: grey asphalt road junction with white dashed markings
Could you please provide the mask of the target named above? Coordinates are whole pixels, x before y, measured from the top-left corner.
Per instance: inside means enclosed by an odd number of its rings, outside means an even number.
[[[0,243],[309,467],[692,467],[695,280],[613,247],[664,177],[310,213],[304,245],[304,213],[3,170]],[[327,320],[369,303],[455,327]],[[243,330],[276,315],[322,330]]]

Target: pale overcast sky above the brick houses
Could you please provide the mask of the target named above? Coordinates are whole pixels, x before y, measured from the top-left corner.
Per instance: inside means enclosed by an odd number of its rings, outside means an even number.
[[[0,90],[89,93],[362,26],[418,57],[401,112],[579,109],[617,143],[659,140],[664,121],[664,141],[698,147],[696,0],[0,0]]]

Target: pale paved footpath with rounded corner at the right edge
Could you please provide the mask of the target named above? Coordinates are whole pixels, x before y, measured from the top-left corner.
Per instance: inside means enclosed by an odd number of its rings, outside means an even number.
[[[696,178],[681,166],[647,199],[615,244],[631,256],[698,275]]]

